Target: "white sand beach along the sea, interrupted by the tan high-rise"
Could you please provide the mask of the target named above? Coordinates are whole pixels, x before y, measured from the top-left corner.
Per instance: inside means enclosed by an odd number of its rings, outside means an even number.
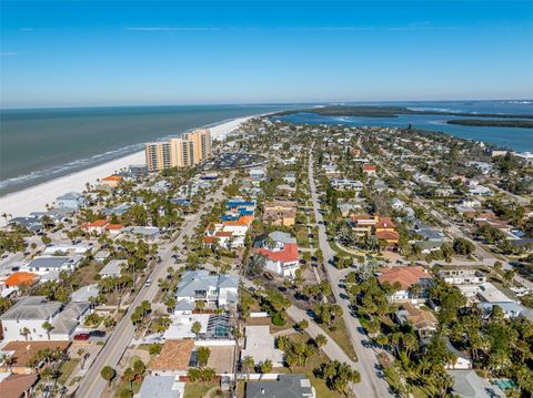
[[[239,118],[211,126],[212,139],[223,139],[251,118],[254,116]],[[72,191],[81,192],[86,188],[87,183],[93,184],[98,178],[105,177],[131,164],[144,164],[144,151],[2,196],[0,197],[0,214],[7,213],[17,217],[27,216],[31,212],[43,211],[46,205],[52,204],[58,196]],[[4,224],[6,220],[0,218],[0,226]]]

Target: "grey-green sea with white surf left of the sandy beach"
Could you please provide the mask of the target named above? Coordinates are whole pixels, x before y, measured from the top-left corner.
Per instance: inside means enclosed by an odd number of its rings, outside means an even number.
[[[290,105],[0,111],[0,195],[142,150],[149,141]]]

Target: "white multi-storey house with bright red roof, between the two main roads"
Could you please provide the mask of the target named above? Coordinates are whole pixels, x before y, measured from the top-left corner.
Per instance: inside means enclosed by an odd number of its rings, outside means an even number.
[[[269,234],[255,253],[265,259],[266,269],[280,276],[294,277],[300,267],[296,239],[284,232]]]

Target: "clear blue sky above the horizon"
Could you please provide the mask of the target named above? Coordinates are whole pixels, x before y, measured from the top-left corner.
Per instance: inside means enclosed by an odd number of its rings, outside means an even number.
[[[532,1],[1,1],[1,106],[533,96]]]

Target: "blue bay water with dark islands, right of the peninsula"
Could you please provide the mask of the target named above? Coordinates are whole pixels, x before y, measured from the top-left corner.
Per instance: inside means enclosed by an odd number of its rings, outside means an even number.
[[[445,102],[358,102],[345,105],[383,105],[405,106],[413,110],[500,113],[500,114],[533,114],[533,101],[445,101]],[[391,126],[413,127],[443,132],[461,139],[483,141],[517,152],[533,152],[533,129],[517,127],[481,127],[459,124],[446,124],[452,119],[475,119],[475,116],[450,115],[416,115],[400,114],[396,118],[363,118],[363,116],[325,116],[315,113],[294,113],[275,118],[292,123],[308,124],[343,124],[350,126]],[[489,119],[489,118],[482,118]],[[497,118],[491,118],[497,120]]]

